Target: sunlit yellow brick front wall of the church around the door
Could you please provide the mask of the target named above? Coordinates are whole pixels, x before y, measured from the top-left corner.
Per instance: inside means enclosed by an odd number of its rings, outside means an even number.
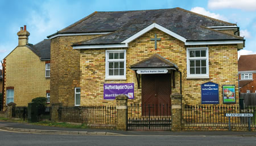
[[[158,49],[155,50],[155,33]],[[222,85],[236,85],[236,104],[238,104],[237,80],[237,45],[208,45],[209,50],[209,79],[187,79],[187,48],[204,46],[185,46],[184,42],[152,29],[143,36],[130,42],[129,48],[109,48],[108,50],[126,49],[126,80],[105,80],[105,51],[106,49],[82,49],[80,53],[80,87],[81,105],[115,105],[115,100],[103,99],[104,83],[134,83],[134,99],[131,103],[141,104],[141,89],[138,89],[135,72],[129,67],[151,55],[158,53],[175,63],[182,72],[183,104],[201,104],[201,84],[212,81],[219,85],[219,101],[222,104]],[[175,74],[175,88],[172,93],[180,92],[180,75]],[[52,91],[51,91],[52,92]]]

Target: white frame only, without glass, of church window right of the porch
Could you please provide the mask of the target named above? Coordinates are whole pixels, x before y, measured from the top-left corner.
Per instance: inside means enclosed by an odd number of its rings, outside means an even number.
[[[205,57],[189,57],[190,50],[205,50]],[[200,47],[200,48],[187,48],[187,79],[209,79],[209,52],[208,47]],[[207,74],[190,74],[190,62],[191,60],[205,59]]]

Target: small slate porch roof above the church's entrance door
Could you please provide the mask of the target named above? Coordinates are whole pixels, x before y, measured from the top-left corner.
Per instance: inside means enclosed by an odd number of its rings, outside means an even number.
[[[151,57],[148,57],[146,59],[143,59],[142,61],[135,63],[134,65],[131,65],[130,68],[136,69],[136,68],[176,68],[177,66],[168,61],[166,58],[163,58],[159,54],[151,55]]]

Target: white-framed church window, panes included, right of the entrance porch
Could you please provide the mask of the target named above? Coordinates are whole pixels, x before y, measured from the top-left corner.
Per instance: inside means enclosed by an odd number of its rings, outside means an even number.
[[[208,48],[187,48],[187,78],[208,79]]]

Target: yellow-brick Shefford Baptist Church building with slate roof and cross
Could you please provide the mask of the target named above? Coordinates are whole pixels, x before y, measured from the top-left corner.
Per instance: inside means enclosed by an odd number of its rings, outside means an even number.
[[[238,95],[239,34],[236,24],[182,8],[93,12],[48,36],[51,103],[114,105],[105,88],[130,83],[129,104],[170,104],[174,93],[201,104],[201,84],[212,81],[222,104],[222,85]]]

